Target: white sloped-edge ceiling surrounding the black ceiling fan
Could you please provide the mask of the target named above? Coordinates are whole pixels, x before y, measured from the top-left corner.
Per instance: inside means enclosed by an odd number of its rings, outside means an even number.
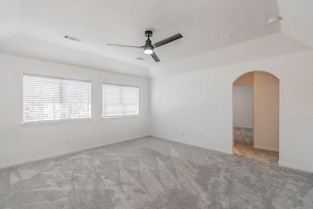
[[[308,7],[313,1],[301,2],[289,12],[295,0],[1,0],[0,52],[149,77],[149,68],[280,32],[280,23],[268,24],[280,13],[286,31],[302,7],[302,19],[313,20],[313,7]],[[292,24],[283,23],[285,17]],[[312,36],[297,37],[306,27],[292,30],[291,37],[312,46]],[[158,63],[142,49],[106,46],[143,46],[145,30],[153,31],[152,43],[177,33],[183,38],[156,48]],[[313,31],[306,30],[309,35]]]

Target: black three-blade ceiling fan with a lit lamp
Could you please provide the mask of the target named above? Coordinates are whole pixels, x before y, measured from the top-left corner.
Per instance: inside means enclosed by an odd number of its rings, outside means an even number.
[[[155,49],[156,47],[168,44],[172,41],[175,41],[177,39],[182,38],[182,35],[180,35],[180,33],[168,37],[162,41],[156,42],[155,44],[152,44],[150,37],[152,37],[152,31],[151,30],[147,30],[145,32],[145,36],[148,37],[145,46],[125,46],[125,45],[116,45],[116,44],[107,44],[107,46],[121,46],[121,47],[129,47],[129,48],[143,48],[143,51],[145,54],[150,54],[152,56],[152,58],[156,61],[159,62],[159,58],[156,56],[156,53],[153,51],[153,49]]]

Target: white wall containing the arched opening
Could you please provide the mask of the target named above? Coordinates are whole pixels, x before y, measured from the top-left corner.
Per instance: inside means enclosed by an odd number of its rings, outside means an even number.
[[[279,164],[313,172],[312,51],[199,71],[169,65],[162,67],[172,75],[150,82],[150,135],[232,153],[232,83],[246,72],[267,71],[280,80]]]

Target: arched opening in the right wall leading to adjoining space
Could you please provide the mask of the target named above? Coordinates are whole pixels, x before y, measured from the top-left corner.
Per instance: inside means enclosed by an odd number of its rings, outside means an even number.
[[[248,72],[233,82],[233,153],[268,163],[279,158],[279,79]]]

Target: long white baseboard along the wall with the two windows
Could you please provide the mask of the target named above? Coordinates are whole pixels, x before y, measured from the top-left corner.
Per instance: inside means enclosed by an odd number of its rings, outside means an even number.
[[[103,144],[97,144],[97,145],[93,145],[93,146],[89,146],[89,147],[84,147],[84,148],[80,148],[80,149],[75,149],[75,150],[70,150],[67,152],[62,152],[62,153],[57,153],[57,154],[52,154],[52,155],[46,155],[43,157],[39,157],[39,158],[33,158],[33,159],[29,159],[26,161],[20,161],[20,162],[16,162],[16,163],[10,163],[10,164],[4,164],[4,165],[0,165],[0,169],[1,168],[7,168],[7,167],[12,167],[15,165],[20,165],[20,164],[24,164],[24,163],[31,163],[31,162],[35,162],[35,161],[40,161],[40,160],[44,160],[44,159],[48,159],[48,158],[54,158],[54,157],[58,157],[58,156],[62,156],[62,155],[68,155],[71,153],[75,153],[75,152],[80,152],[80,151],[84,151],[84,150],[88,150],[88,149],[93,149],[93,148],[98,148],[98,147],[102,147],[102,146],[106,146],[109,144],[115,144],[118,142],[122,142],[122,141],[128,141],[128,140],[132,140],[132,139],[138,139],[141,137],[148,137],[149,135],[141,135],[141,136],[137,136],[137,137],[131,137],[131,138],[127,138],[127,139],[120,139],[120,140],[115,140],[115,141],[111,141],[108,143],[103,143]]]

